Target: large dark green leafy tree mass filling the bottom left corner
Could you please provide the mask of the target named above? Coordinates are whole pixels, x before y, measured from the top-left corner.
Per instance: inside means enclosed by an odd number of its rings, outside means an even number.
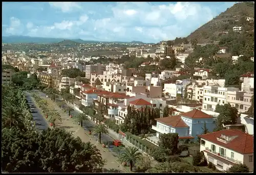
[[[96,146],[65,130],[48,129],[41,134],[2,130],[4,172],[101,172],[103,166]]]

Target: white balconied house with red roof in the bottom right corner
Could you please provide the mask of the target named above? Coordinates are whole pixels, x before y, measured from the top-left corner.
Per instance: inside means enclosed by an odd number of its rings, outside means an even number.
[[[237,129],[222,130],[204,135],[201,138],[200,152],[207,162],[211,162],[219,170],[242,163],[253,171],[253,135]]]

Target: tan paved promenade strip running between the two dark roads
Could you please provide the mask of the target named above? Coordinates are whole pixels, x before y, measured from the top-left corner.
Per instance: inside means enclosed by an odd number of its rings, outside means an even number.
[[[97,147],[97,149],[99,149],[102,159],[107,160],[106,164],[103,168],[119,169],[120,172],[126,172],[125,168],[122,165],[120,165],[116,162],[117,158],[114,157],[111,152],[106,152],[102,148],[102,146],[97,143],[97,141],[96,141],[97,138],[91,138],[88,134],[86,134],[84,129],[81,128],[80,126],[78,126],[77,122],[74,119],[70,118],[69,115],[67,113],[65,113],[62,109],[60,109],[54,102],[52,102],[51,99],[46,98],[46,97],[42,97],[42,98],[46,99],[48,104],[50,106],[54,107],[54,109],[57,112],[59,112],[59,114],[62,117],[62,121],[56,121],[56,128],[65,129],[66,131],[71,132],[74,136],[80,137],[80,139],[83,142],[89,142],[90,141],[92,144],[94,144]]]

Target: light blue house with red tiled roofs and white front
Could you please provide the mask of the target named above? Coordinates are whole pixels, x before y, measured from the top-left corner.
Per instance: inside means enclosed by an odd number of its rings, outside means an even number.
[[[160,134],[178,133],[179,138],[183,141],[196,140],[197,135],[203,132],[204,123],[209,132],[216,128],[214,117],[199,109],[155,120],[157,120],[157,125],[152,126],[152,129],[156,131],[157,138]]]

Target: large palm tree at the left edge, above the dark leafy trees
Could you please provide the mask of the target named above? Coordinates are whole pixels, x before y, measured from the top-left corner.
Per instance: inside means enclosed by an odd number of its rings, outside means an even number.
[[[22,114],[13,106],[2,108],[2,127],[23,129]]]

